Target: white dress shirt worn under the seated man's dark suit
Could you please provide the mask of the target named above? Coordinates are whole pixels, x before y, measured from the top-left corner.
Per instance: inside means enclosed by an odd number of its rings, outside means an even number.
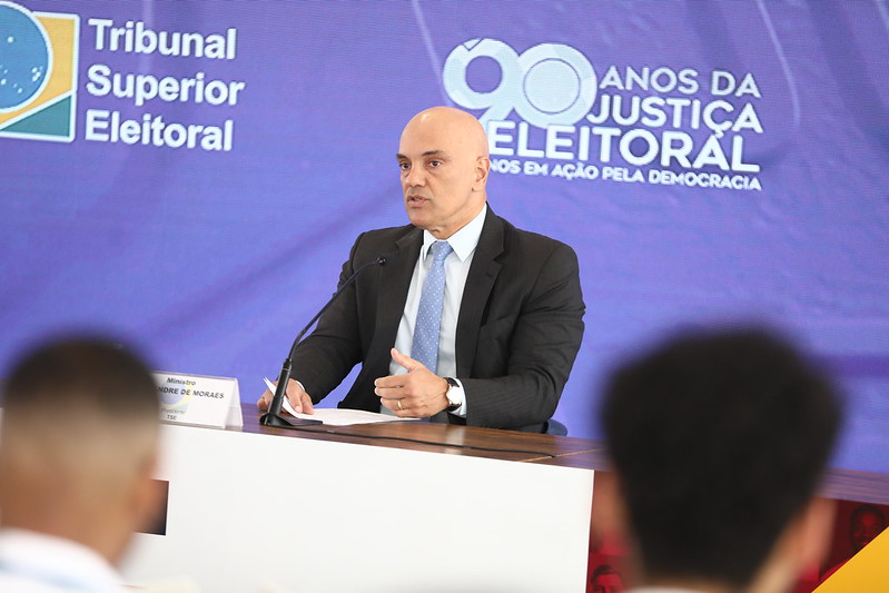
[[[429,370],[441,377],[455,377],[457,378],[457,383],[460,383],[460,378],[456,377],[457,317],[460,317],[460,305],[463,302],[463,288],[466,286],[470,266],[475,255],[475,248],[478,246],[478,238],[482,236],[482,227],[485,224],[486,214],[487,205],[485,205],[482,211],[470,220],[466,226],[447,238],[447,243],[454,249],[454,253],[448,255],[445,259],[445,294],[444,307],[442,309],[442,333],[438,343],[438,368],[431,368]],[[414,344],[414,325],[417,318],[417,310],[419,309],[423,283],[432,265],[432,258],[427,258],[426,256],[429,253],[429,247],[436,240],[438,239],[436,239],[432,233],[428,230],[423,231],[423,247],[419,250],[419,257],[414,267],[411,287],[407,289],[407,300],[404,305],[404,313],[398,324],[398,334],[395,337],[395,349],[406,356],[411,356],[411,348]],[[401,375],[406,372],[407,370],[395,363],[395,360],[389,363],[391,375]],[[452,412],[452,414],[465,418],[466,394],[463,391],[463,385],[461,384],[458,387],[453,387],[450,397],[456,402],[461,402],[460,407],[455,412]],[[381,412],[385,413],[389,411],[381,406]]]

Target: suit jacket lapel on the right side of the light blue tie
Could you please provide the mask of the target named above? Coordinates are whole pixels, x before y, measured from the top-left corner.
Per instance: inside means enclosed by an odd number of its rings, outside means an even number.
[[[485,224],[463,289],[456,335],[457,376],[470,376],[475,362],[478,328],[487,306],[491,289],[500,274],[496,258],[503,253],[503,221],[487,207]]]

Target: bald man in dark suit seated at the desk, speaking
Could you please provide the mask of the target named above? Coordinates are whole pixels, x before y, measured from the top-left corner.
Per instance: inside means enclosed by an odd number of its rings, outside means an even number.
[[[583,336],[576,255],[487,206],[487,139],[471,115],[422,111],[405,127],[397,159],[411,225],[357,238],[340,285],[381,256],[387,263],[358,277],[299,345],[290,403],[310,413],[362,363],[340,407],[544,431]],[[429,315],[435,278],[441,298]],[[417,337],[428,317],[441,318],[432,357]],[[264,393],[259,408],[270,398]]]

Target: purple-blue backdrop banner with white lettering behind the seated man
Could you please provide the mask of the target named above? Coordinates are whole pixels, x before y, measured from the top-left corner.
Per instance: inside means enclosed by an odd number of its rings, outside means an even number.
[[[452,105],[494,210],[579,254],[572,435],[634,348],[758,319],[848,392],[833,463],[889,472],[887,63],[876,0],[0,2],[0,363],[113,330],[255,399]]]

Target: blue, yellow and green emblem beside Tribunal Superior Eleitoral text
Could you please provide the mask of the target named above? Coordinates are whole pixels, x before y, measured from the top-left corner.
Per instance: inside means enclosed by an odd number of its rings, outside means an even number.
[[[77,14],[0,1],[0,137],[75,139]]]

